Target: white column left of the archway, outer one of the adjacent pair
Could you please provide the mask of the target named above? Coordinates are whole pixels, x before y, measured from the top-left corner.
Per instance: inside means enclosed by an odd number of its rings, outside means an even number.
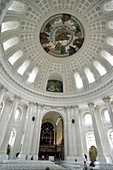
[[[24,133],[24,140],[22,144],[22,150],[20,153],[20,159],[25,159],[26,155],[30,154],[30,143],[31,143],[31,123],[32,123],[32,116],[33,116],[33,108],[34,108],[34,103],[30,103],[28,106],[28,118],[27,118],[27,123],[25,127],[25,133]],[[30,147],[30,148],[29,148]]]

